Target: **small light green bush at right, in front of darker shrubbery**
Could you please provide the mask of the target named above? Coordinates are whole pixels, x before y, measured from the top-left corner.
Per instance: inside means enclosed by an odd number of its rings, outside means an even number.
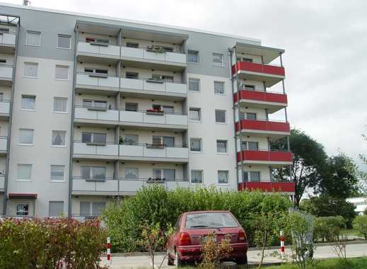
[[[313,230],[313,237],[316,241],[332,242],[335,236],[339,236],[341,229],[346,227],[346,219],[337,217],[317,217]]]

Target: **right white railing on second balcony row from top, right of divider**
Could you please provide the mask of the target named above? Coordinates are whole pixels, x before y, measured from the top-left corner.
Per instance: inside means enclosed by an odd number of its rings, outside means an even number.
[[[138,91],[187,94],[187,85],[151,79],[121,79],[121,88]]]

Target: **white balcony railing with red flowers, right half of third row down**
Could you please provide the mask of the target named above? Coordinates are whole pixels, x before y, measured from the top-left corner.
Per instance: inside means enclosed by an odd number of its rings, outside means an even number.
[[[187,115],[120,110],[120,121],[159,125],[187,125]]]

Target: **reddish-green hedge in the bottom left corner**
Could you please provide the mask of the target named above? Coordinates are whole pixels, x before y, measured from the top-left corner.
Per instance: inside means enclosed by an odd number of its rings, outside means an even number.
[[[98,219],[5,219],[0,268],[98,268],[105,233]]]

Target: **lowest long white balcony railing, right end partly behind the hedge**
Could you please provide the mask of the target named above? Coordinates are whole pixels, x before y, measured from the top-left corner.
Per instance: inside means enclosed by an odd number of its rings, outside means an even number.
[[[152,182],[148,178],[105,178],[103,181],[90,181],[86,178],[73,177],[73,195],[134,195],[140,188],[151,184],[162,185],[168,190],[189,188],[188,181]]]

